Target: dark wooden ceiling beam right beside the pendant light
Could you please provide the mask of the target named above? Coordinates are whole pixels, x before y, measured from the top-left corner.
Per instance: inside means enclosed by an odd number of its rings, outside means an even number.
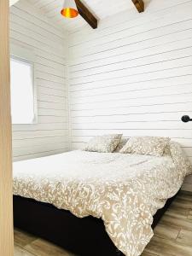
[[[79,15],[81,15],[93,29],[96,29],[98,24],[96,17],[86,6],[84,6],[84,3],[82,3],[80,0],[75,0],[75,3],[77,5]]]

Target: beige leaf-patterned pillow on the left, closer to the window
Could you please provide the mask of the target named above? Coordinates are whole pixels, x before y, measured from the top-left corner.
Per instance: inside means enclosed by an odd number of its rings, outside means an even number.
[[[119,145],[121,137],[122,134],[109,134],[93,137],[83,150],[100,153],[112,153]]]

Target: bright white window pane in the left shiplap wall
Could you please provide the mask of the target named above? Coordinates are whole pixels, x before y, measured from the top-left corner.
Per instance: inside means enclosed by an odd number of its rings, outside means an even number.
[[[11,56],[11,114],[13,124],[32,124],[35,119],[33,65]]]

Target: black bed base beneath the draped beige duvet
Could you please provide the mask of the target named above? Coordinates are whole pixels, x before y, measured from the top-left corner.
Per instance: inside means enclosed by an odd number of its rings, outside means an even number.
[[[153,229],[174,197],[154,215]],[[108,237],[101,219],[77,218],[49,204],[14,196],[15,227],[54,242],[79,256],[123,256]],[[56,255],[53,255],[56,256]]]

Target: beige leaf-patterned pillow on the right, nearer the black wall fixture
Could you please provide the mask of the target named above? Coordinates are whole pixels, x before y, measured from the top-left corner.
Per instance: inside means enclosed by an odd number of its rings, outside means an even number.
[[[120,153],[162,156],[169,142],[168,137],[131,137]]]

